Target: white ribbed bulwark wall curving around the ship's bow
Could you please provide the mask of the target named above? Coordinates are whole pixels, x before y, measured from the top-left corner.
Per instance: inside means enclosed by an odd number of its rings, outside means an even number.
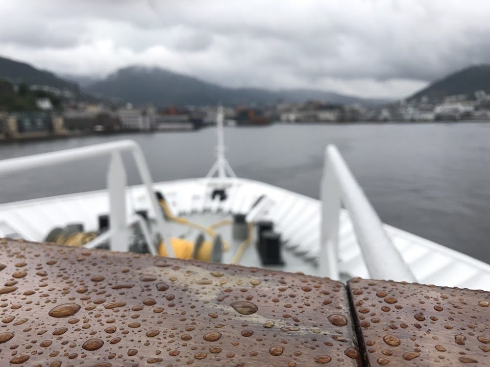
[[[223,185],[227,186],[227,199],[212,201],[212,190]],[[318,200],[269,184],[237,178],[178,180],[156,183],[154,187],[165,195],[174,214],[192,215],[196,221],[203,212],[208,217],[216,214],[216,218],[245,213],[248,221],[273,221],[275,229],[286,241],[285,270],[321,275],[321,267],[315,265],[320,244]],[[265,198],[251,210],[261,195]],[[142,186],[128,188],[126,197],[128,217],[138,209],[147,209],[154,217]],[[108,211],[109,200],[105,190],[4,204],[0,205],[0,237],[20,236],[26,240],[42,241],[53,227],[73,222],[83,223],[86,230],[96,230],[98,215]],[[170,231],[172,226],[169,225],[168,229]],[[385,229],[419,283],[490,290],[490,265],[406,231],[388,225]],[[244,254],[243,265],[258,265],[253,249],[254,246]],[[297,255],[301,259],[294,262]],[[343,278],[369,277],[345,210],[340,215],[339,259]]]

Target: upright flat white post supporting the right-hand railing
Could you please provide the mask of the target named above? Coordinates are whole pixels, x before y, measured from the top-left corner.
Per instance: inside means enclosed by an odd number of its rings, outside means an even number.
[[[340,214],[340,189],[335,177],[332,163],[328,159],[325,150],[323,163],[323,175],[320,183],[321,200],[321,245],[319,252],[319,264],[326,267],[326,275],[334,280],[339,280],[338,246],[339,246],[339,214]]]

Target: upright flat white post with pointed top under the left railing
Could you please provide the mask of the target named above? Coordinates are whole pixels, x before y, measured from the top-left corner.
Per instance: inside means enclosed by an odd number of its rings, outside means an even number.
[[[107,170],[109,191],[110,246],[113,251],[128,251],[126,229],[126,171],[119,152],[113,152]]]

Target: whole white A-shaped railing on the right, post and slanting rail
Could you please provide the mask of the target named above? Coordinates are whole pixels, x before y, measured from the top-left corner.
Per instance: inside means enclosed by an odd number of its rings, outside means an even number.
[[[416,281],[334,145],[328,145],[325,149],[320,199],[319,264],[326,268],[327,276],[339,279],[339,214],[343,204],[350,214],[369,275],[374,279]]]

